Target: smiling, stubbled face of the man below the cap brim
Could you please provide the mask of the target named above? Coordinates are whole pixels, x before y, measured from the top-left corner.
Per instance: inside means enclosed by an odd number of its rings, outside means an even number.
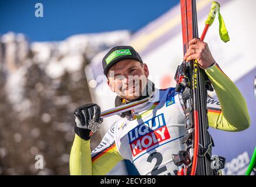
[[[120,98],[131,101],[141,95],[148,75],[146,64],[136,60],[121,60],[108,71],[108,85]]]

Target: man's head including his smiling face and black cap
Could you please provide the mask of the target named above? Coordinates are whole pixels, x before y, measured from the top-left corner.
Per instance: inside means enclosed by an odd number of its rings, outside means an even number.
[[[111,91],[120,98],[133,101],[146,95],[142,91],[146,91],[148,67],[132,47],[114,47],[103,59],[103,68]]]

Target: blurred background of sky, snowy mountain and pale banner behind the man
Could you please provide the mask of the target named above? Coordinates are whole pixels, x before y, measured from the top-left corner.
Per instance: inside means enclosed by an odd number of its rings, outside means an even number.
[[[252,123],[241,133],[211,129],[213,152],[227,158],[224,174],[243,175],[256,144],[256,26],[251,24],[256,2],[218,2],[231,40],[219,39],[217,20],[205,40],[243,93]],[[197,0],[199,33],[210,3]],[[178,0],[0,1],[0,24],[1,175],[69,175],[74,109],[89,102],[102,110],[114,106],[101,65],[112,46],[133,46],[158,88],[175,86],[183,55]],[[91,149],[116,119],[104,119]],[[36,155],[42,155],[43,168],[36,169]],[[122,161],[112,174],[136,174],[136,169]]]

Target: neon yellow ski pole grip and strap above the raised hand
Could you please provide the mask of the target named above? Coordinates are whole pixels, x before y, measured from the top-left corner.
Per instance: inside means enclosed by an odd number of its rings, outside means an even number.
[[[223,17],[221,16],[220,4],[218,2],[216,2],[216,1],[211,2],[211,10],[207,16],[205,24],[211,26],[213,24],[213,21],[214,21],[217,13],[218,13],[218,17],[219,17],[220,39],[226,43],[227,41],[230,40],[230,38],[228,36],[228,32],[227,32]]]

